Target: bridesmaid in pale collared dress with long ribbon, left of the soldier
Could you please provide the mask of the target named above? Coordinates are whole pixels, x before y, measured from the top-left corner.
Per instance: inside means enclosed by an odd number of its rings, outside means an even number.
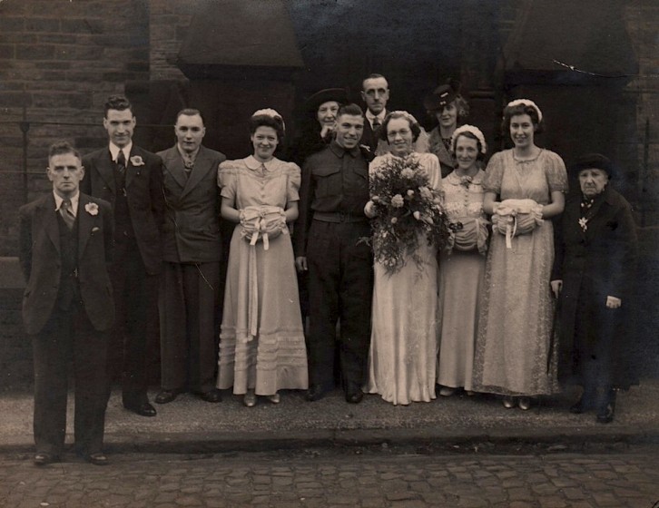
[[[254,154],[220,164],[221,216],[237,223],[231,238],[220,335],[218,388],[280,402],[280,389],[306,389],[293,250],[287,223],[298,217],[300,168],[273,156],[284,135],[274,110],[250,119]]]

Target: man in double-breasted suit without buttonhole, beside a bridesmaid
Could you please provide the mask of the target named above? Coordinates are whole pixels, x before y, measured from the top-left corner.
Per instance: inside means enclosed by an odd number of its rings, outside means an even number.
[[[220,192],[217,171],[226,157],[202,146],[198,110],[184,109],[174,125],[176,144],[158,152],[163,162],[165,223],[160,289],[161,392],[172,402],[188,388],[220,402],[215,387],[220,335]]]

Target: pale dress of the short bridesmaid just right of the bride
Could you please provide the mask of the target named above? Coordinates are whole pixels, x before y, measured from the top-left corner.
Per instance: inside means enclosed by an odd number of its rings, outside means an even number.
[[[479,170],[467,184],[452,172],[442,180],[448,219],[475,231],[474,249],[442,251],[439,261],[438,384],[472,390],[479,302],[483,293],[487,218]]]

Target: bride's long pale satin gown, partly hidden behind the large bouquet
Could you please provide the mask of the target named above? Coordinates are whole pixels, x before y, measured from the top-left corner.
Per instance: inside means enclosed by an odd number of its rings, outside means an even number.
[[[416,153],[419,165],[428,171],[429,184],[441,189],[437,157]],[[376,157],[372,174],[392,158]],[[372,331],[369,349],[369,380],[366,391],[379,394],[394,405],[429,402],[435,398],[437,367],[437,249],[419,242],[423,269],[408,259],[405,266],[389,275],[376,262],[373,288]]]

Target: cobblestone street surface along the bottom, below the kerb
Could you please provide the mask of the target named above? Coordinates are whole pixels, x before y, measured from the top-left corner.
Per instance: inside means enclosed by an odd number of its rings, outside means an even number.
[[[659,506],[658,445],[616,454],[408,454],[360,448],[116,454],[37,468],[0,455],[0,505],[33,507]]]

